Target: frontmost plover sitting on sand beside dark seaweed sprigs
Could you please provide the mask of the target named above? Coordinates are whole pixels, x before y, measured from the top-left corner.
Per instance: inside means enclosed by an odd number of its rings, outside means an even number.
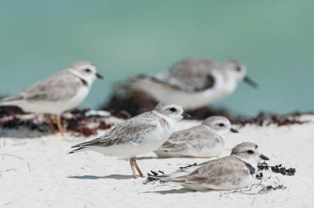
[[[230,156],[214,159],[178,170],[170,175],[154,176],[165,182],[176,182],[194,190],[234,190],[249,186],[255,179],[257,164],[269,160],[254,143],[240,143]]]

